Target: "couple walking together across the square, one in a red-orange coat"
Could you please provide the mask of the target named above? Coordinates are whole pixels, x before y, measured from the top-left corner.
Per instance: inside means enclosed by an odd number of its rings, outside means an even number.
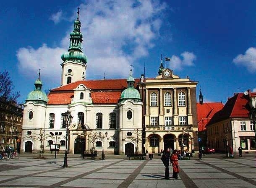
[[[171,151],[171,152],[170,152]],[[177,150],[173,150],[170,148],[166,148],[162,154],[161,158],[162,162],[165,165],[165,179],[170,179],[170,171],[169,171],[169,160],[172,164],[172,178],[178,179],[179,173],[179,164],[178,164],[178,152]]]

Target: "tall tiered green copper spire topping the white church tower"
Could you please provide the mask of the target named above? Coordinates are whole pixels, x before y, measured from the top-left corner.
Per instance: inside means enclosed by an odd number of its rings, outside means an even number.
[[[77,18],[74,21],[74,30],[70,34],[70,46],[68,52],[64,53],[61,56],[63,61],[73,60],[80,63],[87,63],[87,57],[82,52],[81,44],[83,35],[80,32],[81,22],[79,21],[79,7],[77,11]]]

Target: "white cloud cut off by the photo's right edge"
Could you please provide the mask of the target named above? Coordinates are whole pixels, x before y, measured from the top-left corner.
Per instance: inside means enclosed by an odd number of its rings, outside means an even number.
[[[245,66],[251,73],[256,71],[256,48],[248,48],[245,55],[239,54],[233,59],[233,63],[235,63],[235,65]]]

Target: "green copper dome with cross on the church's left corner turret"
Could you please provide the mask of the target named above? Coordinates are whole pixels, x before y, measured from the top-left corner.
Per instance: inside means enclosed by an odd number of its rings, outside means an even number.
[[[36,103],[47,103],[48,102],[48,97],[47,95],[42,91],[42,81],[40,80],[40,72],[39,72],[39,77],[38,79],[35,81],[34,83],[35,85],[35,89],[34,91],[31,91],[27,98],[26,98],[26,102],[27,101],[34,101]]]

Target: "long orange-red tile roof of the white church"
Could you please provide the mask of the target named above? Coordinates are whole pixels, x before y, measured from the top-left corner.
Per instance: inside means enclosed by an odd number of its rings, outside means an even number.
[[[137,82],[139,79],[135,79],[135,87],[137,87]],[[79,84],[84,84],[91,89],[91,98],[94,104],[117,104],[122,91],[127,88],[127,79],[76,81],[52,89],[48,94],[47,104],[70,104],[74,96],[73,90]]]

